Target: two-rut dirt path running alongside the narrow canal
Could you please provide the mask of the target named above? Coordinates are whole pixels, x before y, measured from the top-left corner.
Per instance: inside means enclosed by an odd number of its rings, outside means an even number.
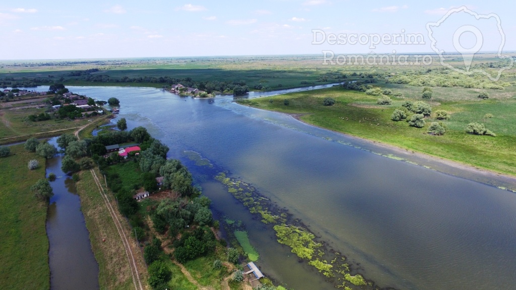
[[[93,169],[90,169],[90,172],[91,172],[91,175],[93,175],[93,179],[95,180],[96,186],[99,188],[99,192],[100,192],[102,198],[104,199],[104,203],[106,204],[109,214],[111,215],[111,218],[115,222],[118,234],[120,235],[122,244],[124,245],[125,255],[127,256],[127,260],[129,262],[129,266],[131,268],[131,275],[133,276],[134,287],[136,290],[144,290],[144,288],[141,284],[140,275],[138,273],[138,267],[136,266],[136,260],[134,258],[133,250],[131,249],[131,244],[127,240],[127,235],[124,232],[124,229],[122,227],[122,224],[120,223],[118,215],[115,212],[115,210],[113,209],[113,207],[111,206],[111,203],[109,202],[109,200],[106,196],[106,193],[104,191],[104,188],[102,187],[99,178],[95,174],[95,171]],[[139,285],[139,287],[138,287],[138,285]]]

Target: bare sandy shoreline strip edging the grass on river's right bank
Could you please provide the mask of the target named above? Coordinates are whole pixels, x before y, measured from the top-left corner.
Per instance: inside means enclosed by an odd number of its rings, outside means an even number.
[[[276,111],[276,112],[278,112],[278,111]],[[407,151],[407,149],[397,147],[397,146],[395,146],[393,144],[383,143],[381,141],[376,141],[376,140],[371,140],[371,139],[367,139],[367,138],[363,138],[363,137],[349,135],[349,134],[346,134],[346,133],[343,133],[343,132],[331,130],[329,128],[325,128],[325,127],[317,126],[317,125],[314,125],[314,124],[310,124],[310,123],[307,123],[307,122],[301,120],[302,116],[309,115],[309,114],[294,114],[294,113],[285,113],[285,112],[279,112],[279,113],[289,115],[289,116],[293,117],[294,119],[296,119],[296,120],[298,120],[298,121],[300,121],[300,122],[302,122],[304,124],[307,124],[307,125],[310,125],[310,126],[314,126],[314,127],[318,127],[318,128],[324,129],[324,130],[328,130],[328,131],[331,131],[331,132],[334,132],[334,133],[337,133],[337,134],[342,134],[342,135],[345,135],[346,137],[349,137],[349,138],[357,139],[357,140],[360,140],[360,141],[365,141],[365,142],[367,142],[367,143],[369,143],[369,144],[371,144],[373,146],[378,146],[378,147],[382,147],[382,148],[394,151],[397,154],[400,154],[402,156],[407,156],[407,155],[413,156],[413,157],[425,160],[425,161],[430,162],[430,163],[438,163],[438,164],[444,165],[446,167],[453,168],[453,169],[456,169],[456,170],[459,170],[459,171],[462,171],[462,172],[465,172],[465,173],[470,173],[470,174],[474,174],[474,175],[477,175],[477,176],[482,176],[482,178],[481,179],[468,178],[467,174],[458,175],[456,173],[450,172],[451,170],[440,170],[440,169],[433,168],[434,170],[437,170],[437,171],[442,172],[442,173],[458,176],[460,178],[465,178],[465,179],[469,179],[469,180],[473,180],[473,181],[478,181],[478,182],[481,182],[481,183],[484,183],[484,184],[488,184],[488,185],[492,185],[492,186],[496,186],[496,185],[493,184],[492,182],[488,182],[488,180],[496,180],[496,181],[500,181],[500,182],[503,182],[503,183],[511,185],[512,188],[508,188],[510,191],[515,191],[516,190],[516,176],[514,176],[514,175],[500,173],[500,172],[496,172],[496,171],[489,170],[489,169],[481,169],[481,168],[478,168],[478,167],[475,167],[475,166],[472,166],[472,165],[469,165],[469,164],[461,163],[461,162],[456,161],[456,160],[445,159],[443,157],[434,156],[434,155],[430,155],[430,154],[427,154],[427,153],[417,152],[417,151],[413,151],[413,150]],[[485,181],[482,181],[484,179],[485,179]],[[503,186],[497,186],[497,187],[501,188]],[[505,189],[505,188],[503,188],[503,189]]]

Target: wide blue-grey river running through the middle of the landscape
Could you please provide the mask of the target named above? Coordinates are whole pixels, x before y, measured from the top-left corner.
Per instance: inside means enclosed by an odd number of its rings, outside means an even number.
[[[288,287],[334,289],[185,151],[199,153],[285,207],[381,287],[516,289],[516,194],[489,185],[514,189],[509,179],[240,106],[227,96],[181,98],[150,88],[70,90],[118,98],[119,118],[129,128],[147,127],[166,143],[169,157],[181,159],[213,200],[213,210],[244,222],[265,275]],[[391,153],[405,160],[381,156]]]

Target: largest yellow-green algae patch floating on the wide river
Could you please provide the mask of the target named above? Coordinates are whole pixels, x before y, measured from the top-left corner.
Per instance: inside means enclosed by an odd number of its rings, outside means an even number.
[[[315,243],[315,235],[294,225],[275,225],[274,230],[278,237],[278,243],[292,248],[292,252],[301,259],[311,260],[314,250],[321,244]]]

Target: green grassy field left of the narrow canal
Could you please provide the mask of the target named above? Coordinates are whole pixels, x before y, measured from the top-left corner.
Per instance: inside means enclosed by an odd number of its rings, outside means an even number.
[[[0,158],[0,288],[50,289],[47,204],[36,199],[30,186],[45,177],[45,159],[12,146]],[[27,163],[38,159],[39,168]]]

